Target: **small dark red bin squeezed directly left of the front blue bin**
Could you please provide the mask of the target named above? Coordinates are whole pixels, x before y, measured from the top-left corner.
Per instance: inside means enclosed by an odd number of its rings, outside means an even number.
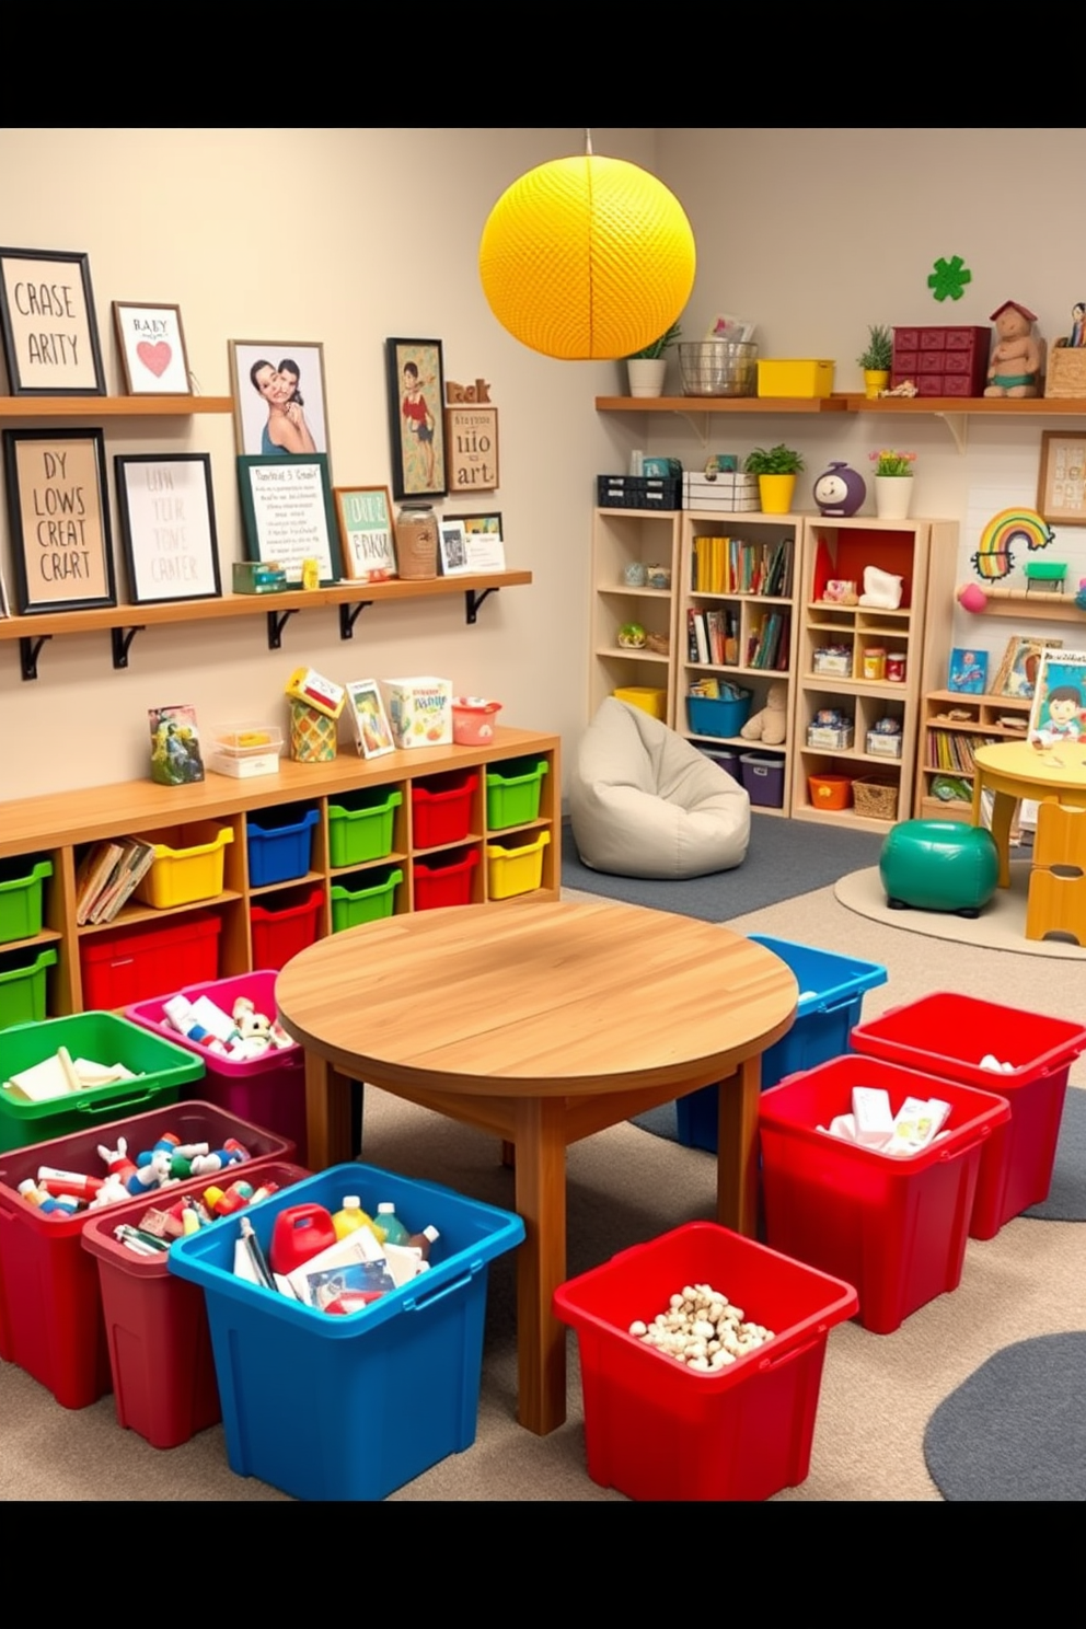
[[[277,1188],[290,1188],[309,1175],[301,1165],[259,1161],[259,1183]],[[204,1192],[213,1181],[200,1176],[171,1188],[169,1204],[182,1194]],[[98,1272],[117,1424],[147,1438],[151,1448],[176,1448],[215,1425],[223,1411],[204,1290],[169,1271],[168,1251],[137,1256],[114,1238],[119,1223],[138,1225],[153,1204],[151,1196],[91,1212],[81,1243]]]

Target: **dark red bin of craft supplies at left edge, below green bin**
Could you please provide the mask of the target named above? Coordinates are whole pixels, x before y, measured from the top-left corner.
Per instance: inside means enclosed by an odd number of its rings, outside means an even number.
[[[107,1212],[44,1215],[23,1199],[18,1184],[36,1179],[39,1165],[104,1176],[99,1144],[112,1148],[125,1137],[135,1158],[168,1131],[213,1148],[236,1137],[252,1155],[246,1173],[295,1152],[285,1139],[212,1103],[174,1103],[129,1119],[101,1116],[86,1131],[0,1155],[0,1357],[47,1386],[65,1409],[85,1409],[111,1388],[98,1267],[83,1249],[86,1222]],[[202,1186],[212,1181],[208,1176]]]

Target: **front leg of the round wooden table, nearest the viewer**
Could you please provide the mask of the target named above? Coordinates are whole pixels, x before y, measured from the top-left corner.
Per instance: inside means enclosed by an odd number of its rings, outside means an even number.
[[[552,1298],[565,1279],[565,1103],[519,1100],[515,1116],[518,1419],[539,1437],[565,1420],[565,1326]]]

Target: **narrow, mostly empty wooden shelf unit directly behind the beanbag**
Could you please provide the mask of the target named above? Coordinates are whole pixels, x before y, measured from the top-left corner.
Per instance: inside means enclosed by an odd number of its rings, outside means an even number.
[[[593,523],[593,619],[589,715],[617,689],[663,691],[663,722],[674,722],[676,603],[679,591],[681,510],[598,508]],[[632,585],[627,569],[658,565],[669,588]],[[619,629],[640,622],[646,634],[668,640],[669,650],[630,650],[619,645]]]

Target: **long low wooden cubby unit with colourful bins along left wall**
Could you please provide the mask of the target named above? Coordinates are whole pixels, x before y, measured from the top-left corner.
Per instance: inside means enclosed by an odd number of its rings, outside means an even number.
[[[493,819],[488,818],[488,771],[498,777]],[[461,777],[461,792],[464,777],[474,779],[467,797],[467,828],[461,842],[430,847],[412,834],[410,793],[415,782],[430,790],[446,785],[443,775]],[[344,865],[332,858],[331,831],[337,824],[331,818],[332,808],[361,814],[360,821],[347,824],[370,826],[368,816],[373,816],[373,824],[381,828],[376,837],[366,832],[358,852],[350,845],[345,850],[335,847],[337,857],[344,852],[350,855]],[[464,854],[472,854],[474,860],[464,867],[469,883],[466,902],[482,904],[495,898],[488,886],[488,867],[482,862],[485,844],[497,831],[501,831],[503,841],[515,839],[515,845],[523,849],[534,844],[541,832],[549,834],[541,844],[537,886],[542,893],[557,894],[562,875],[560,808],[558,736],[503,725],[495,728],[492,741],[479,746],[394,751],[370,761],[340,753],[327,764],[280,759],[275,774],[247,780],[208,774],[190,787],[130,780],[85,788],[78,798],[70,793],[21,798],[2,805],[0,878],[26,880],[41,865],[52,870],[31,883],[41,888],[41,930],[13,940],[11,948],[33,950],[34,963],[41,951],[55,951],[55,966],[36,973],[37,977],[42,971],[46,976],[49,1018],[153,1000],[182,986],[278,966],[283,940],[293,927],[304,925],[313,937],[332,930],[332,886],[352,894],[379,889],[388,881],[389,867],[402,872],[402,881],[392,889],[392,911],[414,911],[420,894],[423,906],[433,906],[435,894],[451,881],[451,876],[435,876],[435,872],[451,870]],[[161,907],[130,899],[109,925],[77,925],[75,870],[91,842],[147,837],[202,823],[215,823],[231,834],[231,841],[220,845],[220,893],[192,902],[176,899]],[[256,849],[251,841],[254,832],[261,834]],[[282,883],[265,880],[267,832],[304,842],[304,855],[295,855],[298,863],[304,860],[301,875]],[[371,855],[389,842],[386,852]],[[441,863],[446,854],[451,855],[448,867]],[[423,868],[415,863],[417,858],[423,860]],[[462,888],[462,878],[458,886]],[[298,919],[287,914],[296,907],[301,907]],[[270,945],[269,935],[274,938]],[[262,955],[267,948],[275,951],[272,958]]]

